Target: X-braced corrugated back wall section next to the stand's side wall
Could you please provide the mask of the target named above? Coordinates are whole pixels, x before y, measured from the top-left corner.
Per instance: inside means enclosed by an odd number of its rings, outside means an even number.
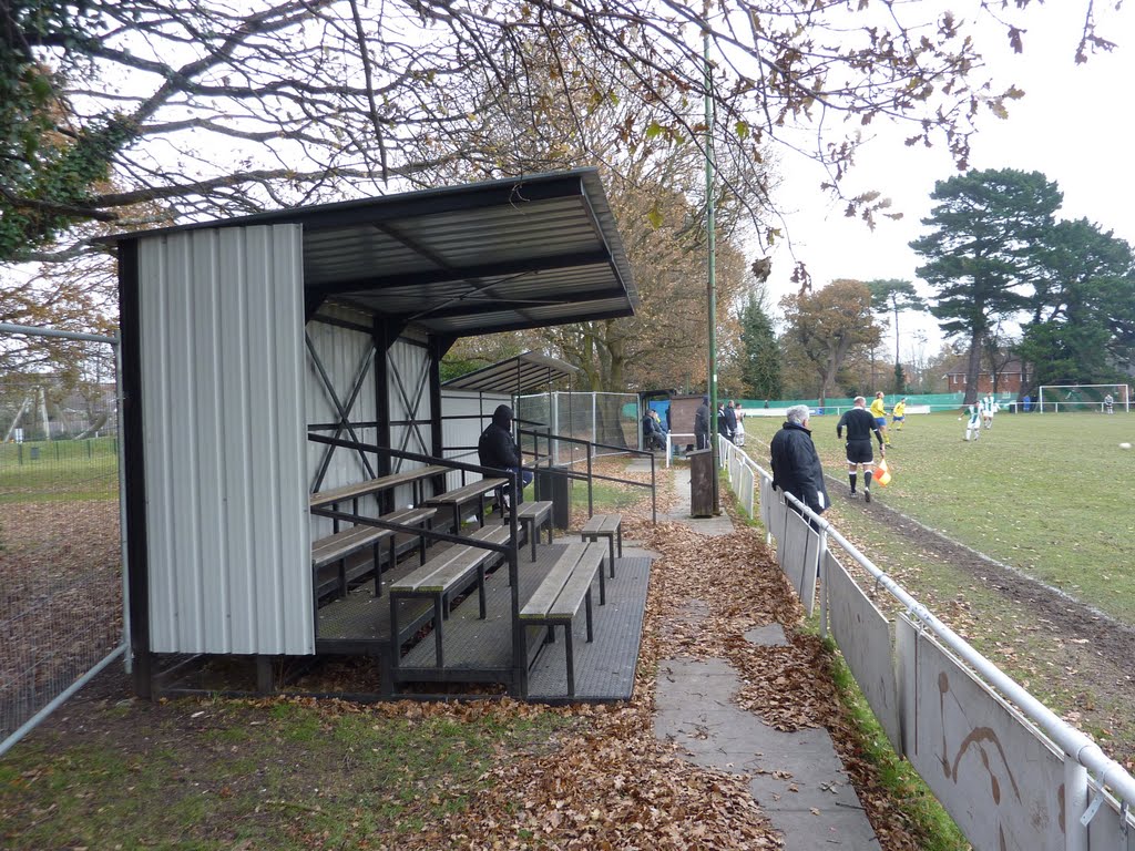
[[[352,311],[347,307],[338,305],[325,304],[319,309],[319,314],[334,319],[342,319],[361,326],[369,326],[371,323],[370,314],[359,313],[358,311]],[[319,355],[319,361],[322,364],[323,370],[331,380],[331,387],[334,388],[336,399],[338,399],[338,403],[344,407],[351,401],[351,394],[354,390],[355,379],[360,374],[363,364],[365,364],[367,369],[362,387],[359,390],[354,405],[348,412],[348,418],[352,423],[375,422],[378,419],[375,411],[378,395],[375,389],[376,370],[375,351],[371,342],[372,336],[369,332],[352,330],[342,326],[333,326],[327,322],[319,321],[309,322],[306,326],[306,334],[308,338],[312,343],[312,347]],[[335,407],[335,403],[331,401],[327,387],[323,385],[323,380],[319,370],[316,368],[311,354],[308,353],[305,359],[308,364],[305,373],[308,403],[305,415],[308,418],[308,423],[338,422],[338,411]],[[352,428],[354,430],[354,438],[352,438],[351,432],[346,430],[344,430],[338,437],[344,440],[358,438],[360,443],[364,444],[373,444],[377,441],[378,430],[373,426],[353,426]],[[334,429],[330,431],[320,430],[317,433],[326,437],[336,436]],[[316,485],[316,474],[319,471],[323,455],[329,448],[330,447],[326,444],[311,443],[308,445],[309,490]],[[375,466],[375,456],[369,455],[368,457],[370,460],[371,467],[377,470]],[[371,477],[363,466],[359,453],[353,449],[336,447],[334,452],[330,453],[330,463],[327,466],[327,472],[323,474],[323,480],[319,483],[319,490],[330,490],[331,488],[352,485],[369,478]],[[360,500],[359,509],[363,513],[375,514],[377,513],[377,507],[378,502],[373,496],[368,496]],[[334,530],[333,521],[327,517],[311,517],[310,524],[312,540],[318,540],[323,536],[330,534]]]

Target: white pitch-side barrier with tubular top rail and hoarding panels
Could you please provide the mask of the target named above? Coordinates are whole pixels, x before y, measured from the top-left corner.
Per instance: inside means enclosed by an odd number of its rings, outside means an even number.
[[[848,668],[894,751],[977,851],[1135,851],[1135,778],[876,567],[822,516],[721,441],[740,504]],[[886,593],[893,621],[875,601]]]

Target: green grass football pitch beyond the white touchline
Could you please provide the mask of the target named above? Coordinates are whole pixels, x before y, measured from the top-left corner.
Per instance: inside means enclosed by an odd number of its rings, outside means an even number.
[[[1135,443],[1135,415],[1001,413],[966,443],[959,414],[908,415],[892,430],[893,479],[875,498],[1135,624],[1135,450],[1119,448]],[[824,472],[846,482],[836,421],[809,426]],[[765,466],[781,422],[745,421],[746,450]]]

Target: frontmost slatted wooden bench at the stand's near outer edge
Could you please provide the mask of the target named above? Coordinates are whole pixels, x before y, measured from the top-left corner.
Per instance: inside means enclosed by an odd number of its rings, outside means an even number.
[[[555,627],[564,627],[564,652],[568,658],[568,697],[575,697],[575,657],[572,648],[571,624],[580,605],[587,612],[587,640],[592,639],[591,582],[599,574],[600,605],[603,593],[603,545],[570,544],[548,571],[536,592],[520,610],[524,626],[547,626],[549,643],[555,639]],[[524,654],[528,658],[528,630],[522,630]]]

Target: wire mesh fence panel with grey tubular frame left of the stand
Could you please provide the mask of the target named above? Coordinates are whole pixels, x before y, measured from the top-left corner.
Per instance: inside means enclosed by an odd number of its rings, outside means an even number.
[[[125,654],[117,342],[0,325],[0,755]]]

